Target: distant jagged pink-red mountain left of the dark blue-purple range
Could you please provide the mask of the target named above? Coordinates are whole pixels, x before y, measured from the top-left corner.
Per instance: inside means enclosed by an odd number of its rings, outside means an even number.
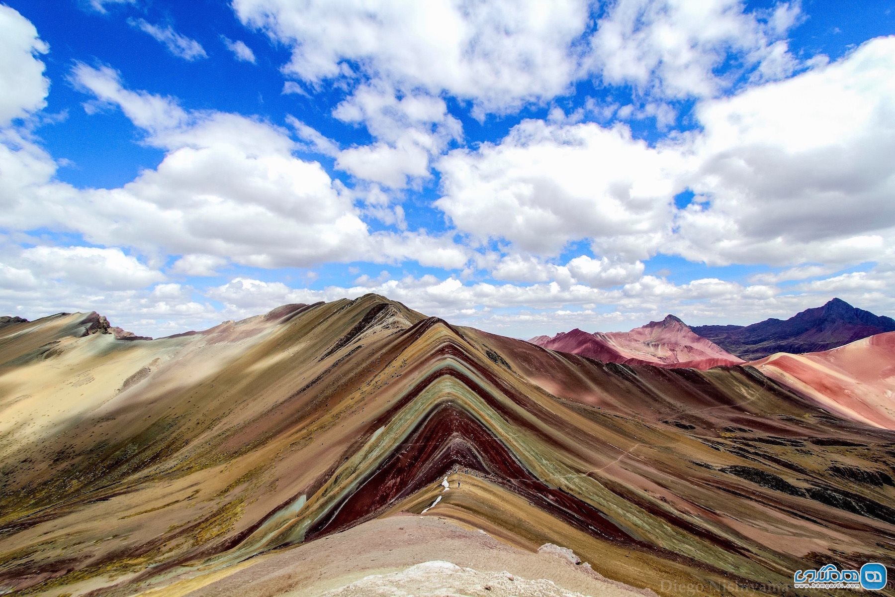
[[[550,350],[581,354],[603,362],[702,370],[744,362],[711,340],[696,335],[674,315],[661,321],[651,321],[644,327],[634,328],[629,332],[589,334],[573,329],[570,332],[560,332],[554,337],[533,337],[529,342]]]

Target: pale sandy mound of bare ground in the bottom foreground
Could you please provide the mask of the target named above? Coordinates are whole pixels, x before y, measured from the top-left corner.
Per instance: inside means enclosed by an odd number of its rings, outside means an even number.
[[[610,581],[571,551],[508,545],[440,516],[399,514],[318,542],[140,593],[146,597],[288,595],[654,595]],[[579,560],[580,561],[580,560]],[[487,588],[486,588],[487,587]]]

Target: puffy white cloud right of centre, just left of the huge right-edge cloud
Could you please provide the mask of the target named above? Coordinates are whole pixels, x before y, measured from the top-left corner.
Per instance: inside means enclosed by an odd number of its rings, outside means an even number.
[[[464,232],[541,255],[589,239],[602,257],[630,263],[669,235],[686,159],[621,125],[526,120],[499,144],[456,149],[437,167],[435,205]]]

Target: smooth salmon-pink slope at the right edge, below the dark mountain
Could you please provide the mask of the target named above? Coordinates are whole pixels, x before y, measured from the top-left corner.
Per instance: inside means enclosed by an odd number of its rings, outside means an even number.
[[[822,353],[777,353],[749,363],[827,410],[895,431],[895,332]]]

